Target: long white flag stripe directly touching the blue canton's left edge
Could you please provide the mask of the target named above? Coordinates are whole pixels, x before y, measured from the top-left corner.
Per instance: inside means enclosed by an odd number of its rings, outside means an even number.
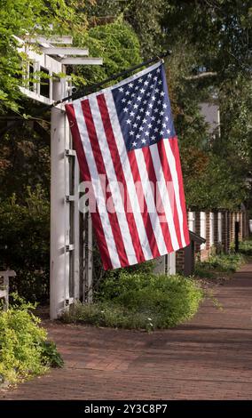
[[[138,191],[136,189],[136,181],[139,181],[138,170],[131,169],[130,155],[127,154],[124,140],[122,138],[122,131],[118,121],[117,113],[114,108],[114,98],[111,92],[106,92],[106,107],[108,110],[111,125],[114,131],[114,140],[116,148],[120,157],[120,162],[123,167],[123,173],[125,181],[127,183],[127,189],[130,197],[130,205],[133,208],[133,215],[138,229],[138,237],[141,243],[141,247],[146,260],[154,258],[154,253],[157,253],[156,245],[153,246],[155,240],[153,234],[151,234],[151,223],[148,213],[141,213],[141,206],[138,202]],[[119,162],[119,160],[118,160]],[[135,165],[136,166],[136,165]],[[146,204],[145,204],[146,205]],[[154,251],[154,253],[153,253]]]

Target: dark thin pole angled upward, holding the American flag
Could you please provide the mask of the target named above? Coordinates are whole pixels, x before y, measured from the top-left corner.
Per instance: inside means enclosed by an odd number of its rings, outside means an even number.
[[[75,93],[71,94],[70,96],[64,97],[61,100],[54,101],[54,103],[52,105],[50,105],[48,109],[53,108],[53,107],[59,105],[60,103],[65,102],[67,100],[79,99],[80,97],[83,97],[83,95],[86,95],[87,93],[90,94],[91,92],[94,92],[98,88],[102,87],[104,84],[109,83],[110,81],[116,80],[117,78],[119,78],[121,76],[125,76],[126,74],[129,74],[129,73],[131,73],[132,71],[135,71],[138,68],[145,67],[146,65],[151,64],[152,62],[154,62],[156,60],[161,60],[161,59],[167,57],[168,55],[170,55],[170,53],[171,53],[170,51],[167,51],[167,52],[162,53],[161,55],[156,55],[154,58],[151,58],[150,60],[143,61],[140,64],[135,65],[134,67],[126,68],[123,71],[121,71],[120,73],[114,74],[113,76],[110,76],[103,81],[100,81],[98,83],[94,83],[94,84],[91,84],[91,85],[87,85],[85,88],[81,89],[79,92],[75,92]]]

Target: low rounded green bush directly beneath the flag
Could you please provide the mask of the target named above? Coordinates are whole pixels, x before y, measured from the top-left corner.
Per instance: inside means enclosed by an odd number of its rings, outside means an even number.
[[[192,318],[202,299],[191,278],[123,270],[116,280],[106,278],[93,304],[77,303],[62,320],[149,331]]]

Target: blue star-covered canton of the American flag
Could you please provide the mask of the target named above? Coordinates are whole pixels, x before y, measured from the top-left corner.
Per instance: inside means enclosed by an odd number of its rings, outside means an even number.
[[[176,135],[163,65],[112,90],[128,151]]]

